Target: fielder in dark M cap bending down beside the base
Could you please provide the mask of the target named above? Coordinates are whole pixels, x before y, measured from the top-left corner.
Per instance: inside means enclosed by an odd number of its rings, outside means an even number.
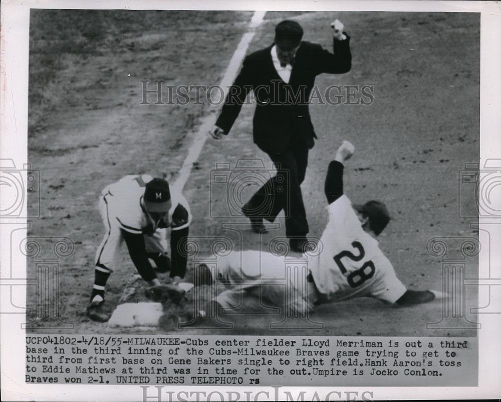
[[[125,176],[106,187],[99,198],[99,211],[106,234],[96,253],[87,315],[106,322],[110,314],[103,309],[105,285],[123,241],[137,271],[150,286],[160,285],[160,281],[149,259],[158,272],[170,270],[172,282],[179,282],[187,262],[180,241],[188,236],[191,214],[186,199],[171,194],[167,181],[149,175]],[[171,228],[172,260],[167,257],[167,228]]]

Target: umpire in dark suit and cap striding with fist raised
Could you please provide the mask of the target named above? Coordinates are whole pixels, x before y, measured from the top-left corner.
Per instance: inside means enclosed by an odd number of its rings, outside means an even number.
[[[275,27],[275,42],[244,59],[210,131],[214,139],[227,135],[248,92],[254,91],[254,143],[280,170],[250,198],[242,212],[250,219],[253,231],[260,233],[266,232],[263,218],[273,222],[284,209],[286,235],[291,249],[297,252],[304,251],[309,232],[301,183],[308,151],[317,138],[308,109],[315,77],[351,69],[350,38],[346,33],[335,30],[334,54],[302,38],[303,29],[295,21],[282,21]]]

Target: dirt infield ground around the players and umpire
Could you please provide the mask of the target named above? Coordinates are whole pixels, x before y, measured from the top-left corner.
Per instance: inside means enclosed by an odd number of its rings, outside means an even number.
[[[30,235],[64,236],[75,244],[73,254],[61,260],[58,276],[59,316],[75,324],[66,332],[153,331],[108,328],[85,316],[94,253],[103,233],[98,196],[126,174],[166,173],[175,180],[199,118],[210,113],[209,105],[197,105],[193,97],[185,106],[141,104],[141,80],[216,85],[250,16],[32,10],[28,147],[29,162],[41,171],[41,191],[32,195],[40,195],[41,217],[32,221]],[[301,23],[305,40],[330,51],[330,23],[343,21],[352,37],[352,70],[321,75],[317,87],[369,86],[374,98],[367,106],[345,102],[310,107],[319,136],[303,184],[310,236],[319,238],[326,223],[327,165],[338,144],[349,140],[356,151],[345,170],[345,192],[354,202],[381,199],[388,205],[392,221],[379,241],[398,277],[409,288],[440,290],[442,264],[427,251],[428,240],[477,238],[471,220],[458,216],[458,206],[471,208],[473,200],[459,198],[457,178],[465,162],[479,159],[479,16],[267,13],[248,53],[271,44],[273,27],[287,16]],[[207,141],[184,188],[193,213],[190,236],[197,239],[200,255],[210,253],[214,236],[228,238],[236,249],[267,249],[274,238],[285,236],[280,219],[276,229],[260,238],[240,218],[214,218],[223,214],[228,202],[227,192],[211,187],[210,171],[216,163],[234,167],[240,158],[262,159],[271,168],[268,157],[252,142],[253,111],[253,105],[245,105],[228,138]],[[253,190],[246,189],[243,197]],[[459,244],[448,251],[458,252]],[[144,301],[144,285],[135,279],[125,247],[119,266],[108,281],[107,304]],[[35,264],[30,259],[28,269],[33,276]],[[469,258],[467,276],[476,277],[477,271],[476,257]],[[124,294],[125,289],[130,292]],[[41,301],[29,291],[27,305],[37,303]],[[476,293],[467,293],[466,305],[477,305]],[[232,334],[475,335],[472,329],[453,329],[464,316],[426,328],[441,316],[439,301],[395,308],[364,298],[320,306],[312,319],[323,323],[321,330],[271,329],[269,323],[280,320],[279,315],[230,321]],[[32,330],[60,332],[51,322],[40,318]],[[196,328],[177,331],[205,333]]]

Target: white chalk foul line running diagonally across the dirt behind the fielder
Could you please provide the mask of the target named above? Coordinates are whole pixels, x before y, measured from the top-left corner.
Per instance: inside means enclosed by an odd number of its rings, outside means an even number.
[[[263,22],[265,14],[266,11],[256,11],[254,13],[254,16],[250,20],[249,24],[250,31],[243,34],[240,43],[236,47],[236,50],[233,53],[231,60],[229,61],[226,73],[224,73],[224,76],[221,82],[219,83],[219,86],[223,90],[224,97],[226,97],[227,95],[228,87],[233,83],[233,81],[236,78],[238,68],[240,67],[242,60],[245,57],[250,41],[252,41],[254,35],[256,35],[255,30]],[[176,181],[172,184],[172,187],[174,187],[179,192],[181,192],[182,189],[184,188],[184,185],[186,184],[186,181],[188,180],[189,175],[191,174],[193,163],[198,160],[200,153],[202,152],[202,148],[205,144],[205,141],[207,140],[207,134],[215,124],[216,116],[214,113],[210,113],[213,109],[215,109],[214,106],[212,106],[209,109],[209,113],[207,114],[207,116],[202,118],[202,122],[200,124],[200,127],[198,128],[198,131],[195,134],[193,143],[189,147],[186,159],[184,160],[181,168],[179,169],[179,175]]]

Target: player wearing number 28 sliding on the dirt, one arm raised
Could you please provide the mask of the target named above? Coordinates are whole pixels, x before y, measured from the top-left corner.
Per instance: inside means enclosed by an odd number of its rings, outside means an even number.
[[[217,282],[226,289],[205,308],[241,309],[252,303],[254,311],[263,304],[282,305],[295,312],[313,311],[315,305],[353,297],[374,297],[398,305],[424,303],[440,297],[440,292],[409,290],[400,282],[391,262],[381,252],[375,239],[386,227],[390,217],[379,201],[354,205],[343,193],[343,170],[353,155],[354,147],[344,141],[329,164],[325,195],[329,203],[329,222],[321,237],[323,250],[310,256],[305,277],[291,277],[284,286],[284,258],[259,251],[232,252],[217,259]],[[216,278],[208,267],[195,270],[196,284],[214,283]],[[280,280],[279,280],[280,279]],[[305,285],[306,284],[306,285]],[[265,287],[262,287],[265,286]],[[178,286],[155,286],[146,296],[155,301],[183,300],[184,290]],[[216,310],[211,310],[216,311]],[[205,310],[196,315],[206,316]]]

